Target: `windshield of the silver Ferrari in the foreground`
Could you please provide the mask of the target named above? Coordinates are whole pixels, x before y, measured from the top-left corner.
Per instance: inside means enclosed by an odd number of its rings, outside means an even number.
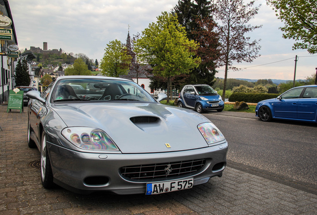
[[[52,101],[156,102],[142,87],[131,81],[78,78],[62,79],[56,83]]]

